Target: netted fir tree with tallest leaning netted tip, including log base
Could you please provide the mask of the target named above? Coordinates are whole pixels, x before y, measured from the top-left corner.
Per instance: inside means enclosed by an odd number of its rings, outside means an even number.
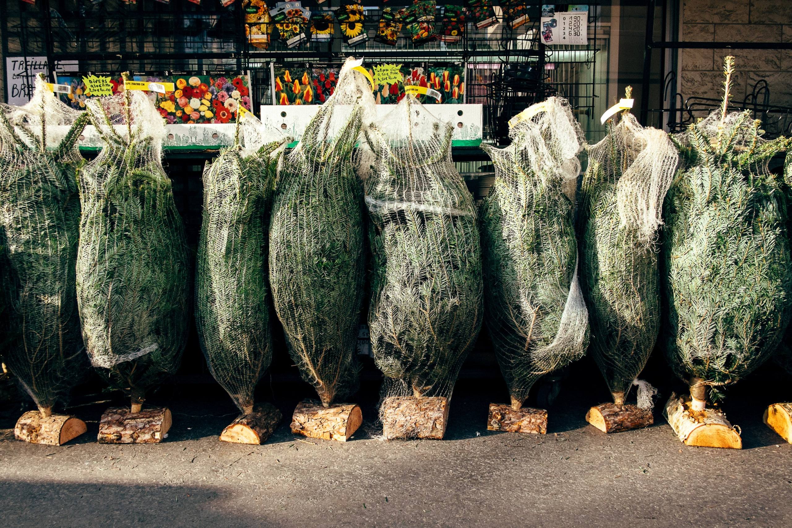
[[[291,359],[320,401],[295,409],[291,431],[346,440],[360,407],[356,344],[364,281],[363,196],[352,154],[371,84],[347,59],[333,95],[318,109],[280,174],[269,228],[269,279]]]

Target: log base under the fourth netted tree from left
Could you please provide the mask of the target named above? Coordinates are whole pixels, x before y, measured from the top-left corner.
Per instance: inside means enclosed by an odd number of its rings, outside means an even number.
[[[303,400],[291,415],[291,432],[312,439],[346,442],[363,424],[363,412],[355,404],[325,407],[319,401]]]

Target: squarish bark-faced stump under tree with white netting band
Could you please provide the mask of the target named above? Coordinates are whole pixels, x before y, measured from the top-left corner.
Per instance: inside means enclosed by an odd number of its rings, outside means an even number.
[[[390,396],[383,401],[379,414],[387,440],[442,440],[448,424],[448,400],[444,397]]]

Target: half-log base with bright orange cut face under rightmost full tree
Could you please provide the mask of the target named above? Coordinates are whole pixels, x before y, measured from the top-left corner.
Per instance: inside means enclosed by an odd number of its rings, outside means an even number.
[[[672,393],[665,404],[664,415],[686,446],[742,449],[740,434],[718,409],[705,408],[696,412],[691,409],[690,397]]]

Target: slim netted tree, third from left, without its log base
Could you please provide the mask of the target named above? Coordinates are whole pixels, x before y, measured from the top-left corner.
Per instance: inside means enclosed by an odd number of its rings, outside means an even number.
[[[196,329],[211,374],[242,412],[253,411],[272,344],[267,223],[278,165],[291,138],[252,114],[204,170],[196,259]]]

